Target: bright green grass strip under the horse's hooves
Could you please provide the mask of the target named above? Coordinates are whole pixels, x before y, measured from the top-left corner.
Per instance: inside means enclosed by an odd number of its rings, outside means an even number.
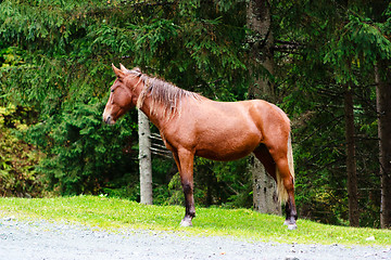
[[[76,196],[55,198],[0,198],[0,217],[21,220],[68,221],[108,230],[142,229],[179,235],[223,235],[240,239],[343,245],[391,245],[390,230],[353,229],[299,220],[289,231],[281,217],[248,209],[197,208],[193,226],[180,227],[185,209],[177,206],[144,206],[118,198]],[[367,240],[368,237],[375,240]]]

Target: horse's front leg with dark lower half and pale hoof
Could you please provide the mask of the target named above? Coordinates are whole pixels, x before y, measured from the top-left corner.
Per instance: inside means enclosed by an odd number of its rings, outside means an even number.
[[[181,226],[191,226],[191,220],[195,217],[194,196],[193,196],[193,161],[194,154],[182,150],[174,153],[175,161],[178,166],[180,181],[185,194],[185,218],[180,222]]]

